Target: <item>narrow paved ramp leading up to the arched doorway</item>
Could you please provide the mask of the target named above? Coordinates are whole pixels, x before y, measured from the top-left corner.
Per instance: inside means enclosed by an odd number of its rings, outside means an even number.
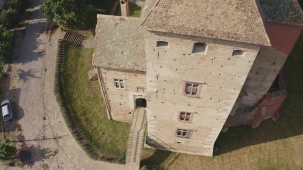
[[[134,110],[125,163],[138,168],[138,170],[140,167],[141,152],[144,144],[145,124],[146,110],[143,108]]]

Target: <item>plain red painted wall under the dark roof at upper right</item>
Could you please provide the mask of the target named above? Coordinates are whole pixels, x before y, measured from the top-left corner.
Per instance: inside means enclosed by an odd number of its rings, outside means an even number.
[[[266,30],[272,47],[289,55],[303,27],[266,21]]]

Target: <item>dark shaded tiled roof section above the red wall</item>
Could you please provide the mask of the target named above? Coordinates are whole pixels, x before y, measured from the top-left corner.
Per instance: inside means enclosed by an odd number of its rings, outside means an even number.
[[[259,0],[265,19],[303,26],[303,12],[298,0]]]

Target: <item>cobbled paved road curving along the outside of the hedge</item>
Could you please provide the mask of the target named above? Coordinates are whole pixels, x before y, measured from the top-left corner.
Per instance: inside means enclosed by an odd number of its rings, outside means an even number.
[[[38,10],[40,0],[29,0],[27,26],[17,33],[14,62],[10,65],[7,98],[15,105],[15,119],[6,131],[15,134],[19,159],[26,170],[131,170],[132,167],[89,159],[68,131],[53,92],[57,39],[60,29]],[[0,166],[0,169],[9,167]]]

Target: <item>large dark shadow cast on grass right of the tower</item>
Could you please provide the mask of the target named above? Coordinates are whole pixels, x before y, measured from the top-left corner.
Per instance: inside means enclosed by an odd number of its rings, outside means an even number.
[[[267,143],[303,134],[303,34],[299,37],[285,64],[288,96],[283,105],[283,116],[276,122],[263,121],[252,129],[250,125],[236,126],[225,134],[220,134],[215,147],[216,155],[228,153],[247,146]]]

